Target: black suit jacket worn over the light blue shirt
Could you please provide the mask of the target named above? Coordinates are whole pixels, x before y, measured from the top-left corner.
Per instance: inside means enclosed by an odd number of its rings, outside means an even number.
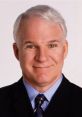
[[[22,79],[0,89],[0,117],[34,117]],[[82,117],[82,89],[64,77],[44,117]]]

